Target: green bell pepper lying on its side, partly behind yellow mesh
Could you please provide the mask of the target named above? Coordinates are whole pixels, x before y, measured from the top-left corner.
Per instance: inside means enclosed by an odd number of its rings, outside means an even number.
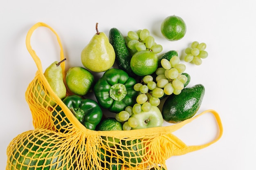
[[[78,119],[81,124],[85,126],[85,128],[95,130],[103,116],[101,107],[97,102],[92,99],[83,99],[77,95],[67,96],[62,101],[70,109],[76,119]],[[61,107],[57,106],[56,110],[60,111]],[[61,120],[63,117],[65,117],[63,112],[61,112],[60,115],[58,115],[56,112],[53,113],[53,116],[56,116],[54,118],[54,124],[57,125],[56,128],[58,130],[63,132],[64,129],[62,127],[65,128],[70,121],[67,119],[65,119],[65,121]]]

